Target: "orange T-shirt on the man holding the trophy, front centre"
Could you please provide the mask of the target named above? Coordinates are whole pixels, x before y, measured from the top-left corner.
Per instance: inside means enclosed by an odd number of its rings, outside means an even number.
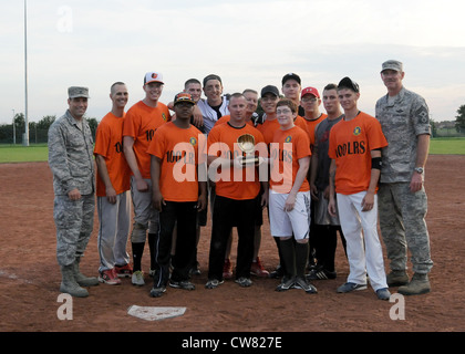
[[[268,156],[264,136],[257,128],[248,124],[236,128],[229,123],[216,125],[211,128],[208,134],[208,155],[228,159],[245,156],[245,153],[237,145],[237,138],[244,134],[250,134],[255,137],[256,155]],[[209,170],[209,173],[211,171]],[[219,178],[215,180],[216,194],[221,197],[236,200],[254,199],[260,191],[259,174],[255,166],[247,166],[241,169],[230,165],[225,168],[218,167],[216,178]]]

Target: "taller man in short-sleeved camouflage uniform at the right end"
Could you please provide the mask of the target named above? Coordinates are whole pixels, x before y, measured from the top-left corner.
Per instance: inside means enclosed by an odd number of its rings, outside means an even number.
[[[427,198],[424,167],[430,149],[430,112],[424,98],[402,85],[403,65],[390,60],[382,64],[381,79],[388,95],[376,102],[375,115],[389,146],[382,152],[379,190],[380,228],[386,246],[390,287],[405,295],[431,291],[433,267],[425,216]],[[407,248],[413,277],[406,274]]]

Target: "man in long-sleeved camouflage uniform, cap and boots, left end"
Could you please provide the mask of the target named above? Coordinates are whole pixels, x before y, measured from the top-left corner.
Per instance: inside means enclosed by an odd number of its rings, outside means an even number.
[[[68,90],[69,110],[49,129],[49,165],[53,174],[56,226],[56,258],[61,267],[60,291],[73,296],[89,295],[81,287],[97,285],[96,278],[86,278],[79,263],[93,229],[95,185],[93,139],[87,122],[89,90]]]

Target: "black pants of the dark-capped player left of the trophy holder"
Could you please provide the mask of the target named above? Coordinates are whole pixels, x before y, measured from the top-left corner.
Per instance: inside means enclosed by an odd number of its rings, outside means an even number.
[[[173,258],[173,281],[189,279],[189,270],[195,257],[197,202],[166,201],[159,212],[159,232],[155,239],[154,287],[166,287],[169,280],[169,257],[173,230],[177,222],[176,250]]]

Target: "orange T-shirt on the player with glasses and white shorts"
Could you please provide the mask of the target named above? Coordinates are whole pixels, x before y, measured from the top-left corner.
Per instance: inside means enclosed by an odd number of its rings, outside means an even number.
[[[280,194],[290,192],[299,170],[299,159],[306,156],[311,156],[307,132],[298,126],[287,131],[276,131],[270,145],[270,158],[273,160],[270,188]],[[310,185],[304,178],[299,191],[308,190]]]

